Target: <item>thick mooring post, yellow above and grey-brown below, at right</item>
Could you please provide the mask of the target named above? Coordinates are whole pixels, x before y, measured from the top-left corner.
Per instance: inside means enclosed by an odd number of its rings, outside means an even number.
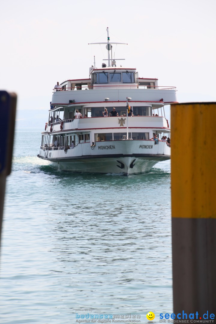
[[[173,104],[171,125],[174,313],[198,312],[194,319],[201,321],[208,311],[212,320],[210,314],[216,317],[216,103]]]

